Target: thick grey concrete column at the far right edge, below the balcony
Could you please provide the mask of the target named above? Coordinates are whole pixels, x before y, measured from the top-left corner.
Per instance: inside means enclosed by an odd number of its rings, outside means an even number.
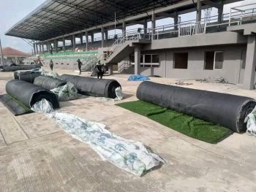
[[[253,89],[255,84],[256,36],[247,37],[246,65],[244,69],[244,88]]]

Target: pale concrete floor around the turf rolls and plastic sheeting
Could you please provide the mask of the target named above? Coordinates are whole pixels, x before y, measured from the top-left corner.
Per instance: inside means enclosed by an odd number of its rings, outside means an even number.
[[[75,74],[64,69],[59,74]],[[83,73],[83,76],[88,74]],[[0,73],[0,93],[12,73]],[[124,101],[136,100],[140,82],[121,83]],[[154,82],[176,80],[151,77]],[[195,81],[184,87],[250,96],[237,85]],[[120,101],[118,101],[120,102]],[[60,111],[105,123],[109,131],[150,146],[168,161],[143,177],[118,169],[37,113],[15,117],[0,103],[0,191],[256,191],[256,138],[233,134],[217,145],[192,139],[143,116],[116,107],[118,102],[78,99]]]

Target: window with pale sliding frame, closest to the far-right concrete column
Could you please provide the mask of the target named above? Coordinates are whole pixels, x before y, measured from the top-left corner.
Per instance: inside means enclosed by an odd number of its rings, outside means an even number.
[[[224,61],[223,51],[207,51],[205,54],[206,70],[222,70]]]

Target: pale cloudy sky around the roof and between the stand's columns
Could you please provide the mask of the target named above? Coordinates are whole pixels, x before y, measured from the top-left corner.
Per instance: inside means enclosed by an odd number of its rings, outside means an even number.
[[[0,38],[2,47],[13,47],[25,53],[31,53],[32,47],[28,45],[23,39],[17,37],[5,36],[5,32],[9,30],[15,23],[22,20],[26,15],[29,15],[34,9],[39,7],[45,0],[0,0]],[[241,4],[254,3],[256,0],[239,1],[233,4],[225,5],[224,13],[229,12],[230,7],[238,6]],[[212,9],[211,15],[216,15],[217,9]],[[195,19],[195,12],[190,12],[181,16],[181,21]],[[204,12],[202,12],[202,17]],[[172,18],[157,20],[156,26],[163,26],[173,23]],[[138,28],[139,25],[129,26],[127,29]],[[141,27],[141,26],[140,26]],[[148,28],[151,23],[148,22]],[[109,31],[108,34],[113,34]],[[94,37],[100,36],[95,34]]]

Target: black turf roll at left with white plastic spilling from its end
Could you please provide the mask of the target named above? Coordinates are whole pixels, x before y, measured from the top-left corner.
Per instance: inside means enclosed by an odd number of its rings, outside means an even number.
[[[50,103],[53,104],[53,108],[59,108],[59,101],[54,93],[29,82],[10,80],[7,82],[6,91],[14,99],[20,101],[29,108],[41,99],[50,101]]]

